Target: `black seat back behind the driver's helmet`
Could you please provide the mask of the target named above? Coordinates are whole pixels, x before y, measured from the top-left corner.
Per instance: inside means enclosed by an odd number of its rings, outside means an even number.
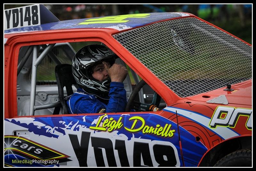
[[[58,85],[59,99],[63,109],[63,114],[69,114],[68,106],[66,105],[64,99],[65,97],[63,88],[66,87],[67,96],[70,96],[74,93],[72,85],[76,85],[76,80],[74,79],[72,74],[72,66],[70,64],[57,65],[55,67],[55,76]]]

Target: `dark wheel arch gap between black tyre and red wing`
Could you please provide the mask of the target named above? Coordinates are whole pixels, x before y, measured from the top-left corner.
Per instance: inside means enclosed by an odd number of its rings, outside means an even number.
[[[252,148],[252,136],[239,136],[214,146],[206,152],[198,167],[212,167],[217,161],[236,150]]]

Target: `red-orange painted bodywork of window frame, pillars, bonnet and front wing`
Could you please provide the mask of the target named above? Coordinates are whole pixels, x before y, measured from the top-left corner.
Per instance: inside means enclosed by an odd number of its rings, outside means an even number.
[[[186,17],[172,18],[188,18],[195,17],[192,14]],[[164,19],[157,22],[172,20]],[[200,19],[202,20],[202,19]],[[204,20],[202,20],[204,21]],[[204,21],[206,22],[206,21]],[[209,22],[206,22],[212,25]],[[151,23],[148,23],[150,25]],[[214,25],[212,25],[214,26]],[[216,26],[214,26],[216,27]],[[220,29],[219,27],[216,27]],[[131,28],[134,29],[134,28]],[[131,30],[127,29],[125,31]],[[222,30],[222,29],[220,29]],[[222,30],[226,32],[225,30]],[[75,29],[56,29],[48,31],[35,31],[28,33],[14,33],[6,34],[4,38],[7,38],[7,42],[4,45],[4,118],[30,118],[40,116],[23,116],[17,115],[17,66],[19,49],[22,46],[40,45],[50,43],[64,43],[64,42],[84,42],[84,41],[98,41],[104,43],[112,51],[114,51],[129,67],[131,67],[148,85],[156,91],[166,102],[167,106],[177,109],[183,109],[186,111],[193,111],[194,113],[200,113],[207,118],[212,118],[215,110],[220,104],[206,103],[207,100],[217,98],[220,95],[225,95],[228,100],[226,107],[252,109],[252,80],[247,80],[241,83],[232,85],[234,91],[223,91],[226,87],[209,91],[207,93],[198,94],[192,97],[179,97],[170,88],[168,88],[161,80],[159,80],[145,65],[138,61],[128,50],[126,50],[119,42],[117,42],[112,35],[120,33],[112,28],[75,28]],[[228,33],[228,32],[226,32]],[[229,33],[228,33],[229,34]],[[229,34],[231,35],[231,34]],[[236,36],[232,35],[237,38]],[[239,39],[239,38],[237,38]],[[241,40],[241,39],[239,39]],[[244,42],[243,40],[241,40]],[[244,42],[246,43],[246,42]],[[249,43],[246,43],[250,45]],[[251,46],[251,45],[250,45]],[[143,114],[144,112],[141,112]],[[148,112],[145,112],[148,113]],[[177,112],[179,113],[179,112]],[[251,137],[252,129],[246,127],[249,116],[240,115],[235,127],[229,127],[235,131],[239,136],[225,140],[214,134],[210,129],[206,129],[195,120],[191,120],[188,117],[162,110],[155,114],[162,116],[172,122],[178,124],[180,127],[186,129],[192,134],[196,141],[201,141],[202,144],[208,149],[201,159],[201,162],[205,160],[205,156],[212,152],[212,149],[220,144],[233,142],[232,139],[240,139],[241,137]],[[115,113],[109,113],[115,115]],[[119,113],[124,114],[124,113]],[[132,114],[132,113],[131,113]],[[136,114],[136,112],[134,113]],[[192,113],[191,113],[192,114]],[[86,114],[87,116],[94,114]],[[70,116],[72,115],[65,115]],[[47,115],[45,117],[52,117]],[[59,117],[59,116],[54,116]],[[61,117],[61,116],[60,116]],[[226,116],[222,116],[225,118]],[[209,123],[208,123],[209,124]],[[228,127],[228,126],[226,126]],[[182,143],[182,142],[181,142]],[[181,146],[181,144],[180,144]],[[182,148],[181,148],[182,149]],[[200,163],[198,163],[200,166]]]

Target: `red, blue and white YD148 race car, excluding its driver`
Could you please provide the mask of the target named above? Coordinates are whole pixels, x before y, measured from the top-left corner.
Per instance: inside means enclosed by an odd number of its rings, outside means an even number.
[[[4,167],[252,166],[251,44],[185,12],[4,14]],[[65,110],[88,44],[130,71],[126,112]]]

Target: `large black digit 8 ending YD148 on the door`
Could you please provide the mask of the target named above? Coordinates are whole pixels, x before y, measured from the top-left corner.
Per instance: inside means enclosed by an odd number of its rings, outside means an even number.
[[[156,144],[153,146],[154,156],[158,167],[175,167],[177,164],[174,150],[169,145]],[[164,160],[164,156],[167,160]]]

